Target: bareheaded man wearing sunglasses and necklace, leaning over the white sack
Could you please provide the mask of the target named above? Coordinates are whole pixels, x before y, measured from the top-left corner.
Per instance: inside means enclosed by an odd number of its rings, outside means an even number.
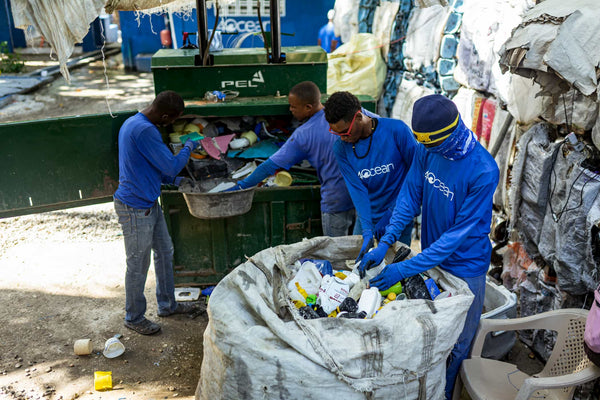
[[[329,132],[339,137],[333,151],[358,213],[360,227],[354,233],[363,236],[358,262],[373,247],[373,239],[385,233],[417,142],[404,122],[367,115],[349,92],[329,97],[325,119]],[[410,245],[411,231],[412,224],[399,240]]]

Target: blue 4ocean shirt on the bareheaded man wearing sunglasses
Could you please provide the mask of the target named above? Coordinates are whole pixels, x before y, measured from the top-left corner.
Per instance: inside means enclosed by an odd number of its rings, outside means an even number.
[[[396,204],[417,148],[413,133],[404,122],[390,118],[378,121],[368,138],[354,145],[336,140],[333,148],[363,232],[373,230],[383,214]]]

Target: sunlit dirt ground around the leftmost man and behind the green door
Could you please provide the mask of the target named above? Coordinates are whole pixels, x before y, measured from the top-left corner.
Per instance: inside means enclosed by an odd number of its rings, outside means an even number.
[[[52,64],[24,55],[28,70]],[[71,71],[0,108],[0,122],[141,109],[154,97],[151,73],[126,73],[118,54]],[[106,86],[108,77],[109,86]],[[108,103],[108,105],[107,105]],[[109,110],[110,106],[110,110]],[[159,318],[154,273],[147,317],[162,331],[141,336],[123,326],[125,251],[112,203],[0,219],[1,399],[193,399],[206,315]],[[125,353],[102,355],[122,334]],[[76,356],[89,338],[93,353]],[[112,371],[114,389],[94,391],[94,371]]]

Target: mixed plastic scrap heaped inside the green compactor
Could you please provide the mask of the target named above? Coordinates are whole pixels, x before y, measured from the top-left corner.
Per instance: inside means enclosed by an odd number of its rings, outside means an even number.
[[[231,188],[251,174],[257,162],[279,150],[296,126],[289,117],[204,118],[188,115],[180,118],[168,131],[173,153],[177,154],[187,140],[199,142],[184,172],[193,184],[183,185],[181,191],[215,193]],[[281,171],[260,185],[291,184],[318,184],[314,168],[302,164],[295,167],[291,175]]]

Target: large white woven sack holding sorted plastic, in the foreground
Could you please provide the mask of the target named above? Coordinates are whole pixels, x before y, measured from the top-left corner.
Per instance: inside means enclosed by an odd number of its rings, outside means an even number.
[[[442,399],[446,358],[473,301],[462,280],[431,269],[452,296],[392,302],[372,319],[305,320],[292,303],[288,266],[312,258],[348,269],[361,243],[305,239],[227,275],[210,297],[196,398]]]

